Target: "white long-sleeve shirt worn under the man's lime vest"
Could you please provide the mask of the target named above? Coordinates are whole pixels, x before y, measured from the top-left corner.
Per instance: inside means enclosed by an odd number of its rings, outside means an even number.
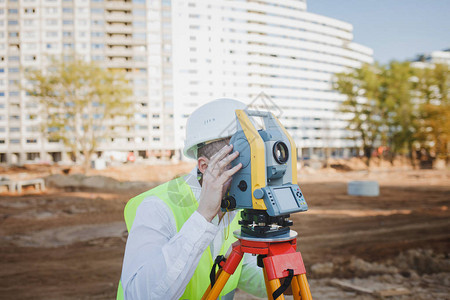
[[[197,169],[185,180],[199,201]],[[236,212],[227,214],[220,222],[216,216],[210,223],[195,211],[177,232],[170,208],[158,197],[145,198],[137,209],[125,248],[121,276],[125,299],[180,298],[206,248],[210,246],[213,258],[218,255]],[[256,265],[256,257],[248,253],[244,254],[238,288],[266,297],[262,269]],[[234,293],[230,294],[227,296],[232,299]]]

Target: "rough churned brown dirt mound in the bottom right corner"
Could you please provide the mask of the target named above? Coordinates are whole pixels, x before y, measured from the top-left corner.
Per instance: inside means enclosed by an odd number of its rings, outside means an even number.
[[[310,277],[313,296],[321,299],[448,299],[450,258],[430,249],[410,249],[384,262],[341,257],[312,265]]]

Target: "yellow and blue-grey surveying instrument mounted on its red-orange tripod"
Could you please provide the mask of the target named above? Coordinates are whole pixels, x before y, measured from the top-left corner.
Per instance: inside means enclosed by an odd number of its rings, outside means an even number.
[[[256,129],[256,118],[262,119],[263,129]],[[221,207],[223,211],[243,209],[241,230],[233,232],[238,241],[229,257],[216,258],[202,299],[217,299],[244,253],[250,253],[257,255],[263,269],[269,299],[284,299],[291,286],[294,299],[310,300],[303,259],[296,252],[297,232],[289,228],[290,214],[308,209],[297,185],[294,140],[270,112],[236,110],[236,119],[238,131],[230,144],[239,156],[232,166],[242,163],[242,168],[233,176]]]

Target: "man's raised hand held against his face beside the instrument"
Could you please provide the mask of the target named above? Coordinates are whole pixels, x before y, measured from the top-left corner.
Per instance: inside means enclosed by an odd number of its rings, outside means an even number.
[[[229,168],[230,162],[239,156],[237,151],[229,154],[232,149],[233,145],[227,145],[214,154],[203,174],[202,192],[197,211],[208,222],[211,222],[219,212],[220,203],[231,183],[231,177],[242,168],[241,163]]]

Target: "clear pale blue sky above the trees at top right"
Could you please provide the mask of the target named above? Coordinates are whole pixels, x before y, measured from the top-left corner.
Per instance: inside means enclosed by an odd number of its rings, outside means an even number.
[[[450,48],[449,0],[307,0],[307,7],[351,23],[354,41],[381,63]]]

